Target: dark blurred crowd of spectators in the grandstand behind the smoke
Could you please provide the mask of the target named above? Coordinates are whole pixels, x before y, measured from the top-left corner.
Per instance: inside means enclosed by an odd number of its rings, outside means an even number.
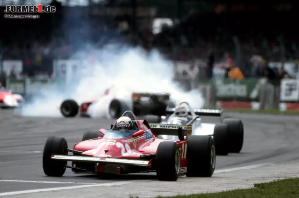
[[[275,78],[281,78],[289,77],[284,67],[268,68],[268,62],[299,59],[298,30],[288,20],[290,17],[294,18],[293,13],[191,12],[178,25],[164,25],[159,34],[153,35],[150,29],[134,32],[131,19],[126,17],[116,20],[94,17],[74,22],[70,15],[64,16],[62,22],[61,16],[49,15],[34,23],[14,20],[14,27],[1,33],[0,44],[2,59],[23,60],[20,75],[25,76],[51,76],[53,59],[70,58],[84,47],[82,43],[102,47],[110,42],[125,42],[141,45],[148,51],[158,48],[168,59],[191,61],[190,67],[196,66],[194,60],[200,60],[206,63],[201,67],[201,78],[213,77],[217,69],[225,70],[225,77],[236,79],[272,74],[262,72],[260,68],[266,66],[267,71],[273,70]],[[265,61],[254,62],[253,55]],[[7,75],[2,72],[0,77]]]

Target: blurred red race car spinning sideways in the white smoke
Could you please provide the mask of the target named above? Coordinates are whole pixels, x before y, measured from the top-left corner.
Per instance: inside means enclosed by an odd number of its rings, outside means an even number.
[[[170,101],[169,94],[160,93],[132,93],[126,97],[118,97],[117,90],[110,88],[96,99],[77,104],[75,100],[67,99],[60,106],[60,112],[64,117],[75,117],[78,113],[81,117],[90,117],[89,108],[92,105],[103,104],[107,118],[120,117],[122,113],[131,110],[136,115],[156,115],[157,122],[160,117],[166,115],[168,107],[175,107]]]

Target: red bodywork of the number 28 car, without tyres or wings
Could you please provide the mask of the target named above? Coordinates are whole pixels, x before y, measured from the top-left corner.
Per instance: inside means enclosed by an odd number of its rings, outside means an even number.
[[[115,121],[116,123],[116,121]],[[115,124],[114,123],[114,124]],[[164,141],[172,141],[167,139],[159,139],[155,138],[155,134],[149,129],[149,125],[145,120],[136,120],[135,121],[138,130],[134,134],[141,134],[136,137],[129,137],[126,139],[106,139],[103,136],[86,140],[83,142],[79,142],[74,145],[74,150],[82,151],[82,155],[84,156],[93,156],[93,157],[104,157],[106,158],[119,158],[119,159],[147,159],[149,160],[147,167],[142,167],[142,169],[138,169],[138,167],[134,167],[132,172],[150,172],[152,168],[152,158],[157,152],[157,148],[160,142]],[[100,129],[99,132],[101,134],[105,134],[105,129]],[[143,135],[142,135],[143,134]],[[180,149],[180,157],[181,157],[181,167],[180,173],[185,174],[187,170],[187,159],[186,153],[184,150],[187,148],[188,141],[172,141],[177,142],[178,147]],[[148,157],[147,157],[148,156]],[[107,166],[113,167],[114,164],[108,163],[98,163],[95,167],[95,172],[107,172]],[[114,165],[114,169],[109,168],[110,173],[120,173],[119,167],[124,165]],[[77,166],[78,167],[78,166]]]

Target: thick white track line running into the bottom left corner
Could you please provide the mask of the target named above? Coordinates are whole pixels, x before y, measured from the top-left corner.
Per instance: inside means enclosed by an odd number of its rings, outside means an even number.
[[[124,184],[131,184],[131,183],[137,183],[137,182],[124,181],[124,182],[102,183],[102,184],[94,184],[94,185],[74,185],[74,186],[56,187],[56,188],[21,190],[21,191],[0,193],[0,196],[20,195],[20,194],[27,194],[27,193],[40,193],[40,192],[55,191],[55,190],[69,190],[69,189],[88,188],[88,187],[96,187],[96,186],[124,185]]]

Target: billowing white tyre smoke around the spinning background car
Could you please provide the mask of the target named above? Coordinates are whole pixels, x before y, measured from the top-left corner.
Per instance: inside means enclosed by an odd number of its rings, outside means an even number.
[[[106,117],[110,99],[106,97],[103,100],[101,96],[112,86],[117,99],[131,100],[133,92],[166,92],[177,104],[186,101],[194,108],[204,105],[198,90],[186,92],[173,81],[173,63],[163,59],[158,51],[148,54],[141,48],[120,48],[116,44],[106,45],[103,49],[88,48],[88,52],[77,52],[71,59],[82,60],[93,54],[96,62],[78,67],[67,75],[64,84],[47,86],[33,94],[31,101],[24,104],[18,113],[22,116],[61,117],[59,106],[65,99],[74,99],[79,105],[100,99],[89,107],[88,113],[94,118]]]

